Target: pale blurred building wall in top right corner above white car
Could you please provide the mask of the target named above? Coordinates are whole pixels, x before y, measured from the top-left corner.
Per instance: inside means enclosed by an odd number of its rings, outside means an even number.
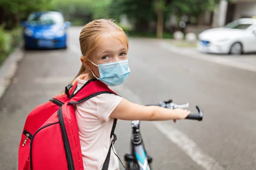
[[[237,20],[243,16],[249,16],[249,17],[256,16],[256,2],[236,3],[234,20]]]

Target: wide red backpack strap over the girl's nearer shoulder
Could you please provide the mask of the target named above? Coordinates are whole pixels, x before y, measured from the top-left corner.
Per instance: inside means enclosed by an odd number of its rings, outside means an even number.
[[[88,80],[80,89],[71,96],[71,99],[68,102],[70,104],[78,104],[84,102],[94,96],[99,94],[115,94],[112,90],[108,88],[103,82],[100,82],[97,79]]]

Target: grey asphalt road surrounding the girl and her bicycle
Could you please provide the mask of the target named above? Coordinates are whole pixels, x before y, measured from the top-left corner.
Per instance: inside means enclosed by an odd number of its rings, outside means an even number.
[[[79,33],[70,28],[67,50],[26,51],[0,100],[0,169],[17,169],[26,115],[59,94],[80,68]],[[130,39],[131,74],[119,95],[140,104],[173,99],[203,108],[203,122],[141,122],[155,170],[256,170],[256,72],[161,48],[159,40]],[[131,126],[118,121],[115,148],[129,152]],[[123,160],[123,159],[122,159]]]

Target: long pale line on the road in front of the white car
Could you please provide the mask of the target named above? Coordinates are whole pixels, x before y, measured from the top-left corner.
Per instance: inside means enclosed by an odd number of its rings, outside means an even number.
[[[230,59],[227,58],[223,58],[223,57],[207,57],[206,55],[203,54],[191,54],[191,51],[186,51],[186,49],[184,49],[182,51],[182,53],[180,53],[180,49],[173,47],[171,45],[169,45],[167,42],[162,42],[160,43],[160,47],[166,50],[169,50],[175,54],[187,54],[187,57],[192,57],[192,58],[196,58],[196,59],[202,59],[208,62],[214,62],[217,64],[221,64],[221,65],[227,65],[227,66],[231,66],[234,68],[239,68],[239,69],[243,69],[243,70],[247,70],[247,71],[253,71],[256,72],[256,66],[253,65],[247,65],[241,62],[236,62],[236,61],[232,61]]]

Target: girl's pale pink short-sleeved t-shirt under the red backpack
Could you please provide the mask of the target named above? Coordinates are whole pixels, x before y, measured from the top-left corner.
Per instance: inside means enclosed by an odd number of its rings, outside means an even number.
[[[77,81],[75,93],[87,82],[80,77]],[[102,170],[113,140],[110,134],[114,119],[109,116],[121,100],[114,94],[100,94],[75,104],[84,170]],[[119,170],[119,160],[112,149],[108,169]]]

